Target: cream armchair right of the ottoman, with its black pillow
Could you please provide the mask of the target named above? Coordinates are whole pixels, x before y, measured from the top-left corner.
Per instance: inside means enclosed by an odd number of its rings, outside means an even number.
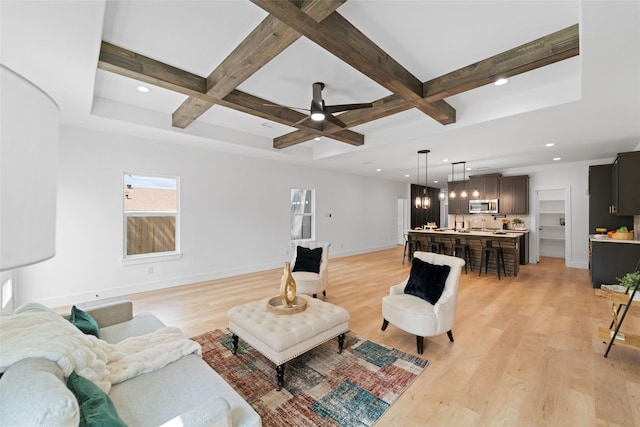
[[[389,295],[382,298],[382,330],[391,323],[415,335],[418,354],[422,354],[424,337],[446,332],[453,342],[458,284],[465,261],[433,252],[415,252],[413,256],[407,280],[392,286]]]

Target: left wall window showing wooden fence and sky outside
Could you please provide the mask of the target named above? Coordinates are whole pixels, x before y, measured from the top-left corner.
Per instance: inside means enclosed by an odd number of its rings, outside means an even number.
[[[124,175],[124,258],[179,251],[178,179]]]

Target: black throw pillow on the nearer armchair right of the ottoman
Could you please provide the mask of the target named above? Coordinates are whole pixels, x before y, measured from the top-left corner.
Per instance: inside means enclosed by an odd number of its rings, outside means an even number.
[[[448,265],[430,264],[414,258],[404,293],[415,295],[435,305],[444,291],[444,283],[447,281],[449,271],[451,267]]]

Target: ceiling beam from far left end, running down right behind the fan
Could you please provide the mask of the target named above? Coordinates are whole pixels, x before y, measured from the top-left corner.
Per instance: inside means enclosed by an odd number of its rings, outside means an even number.
[[[206,79],[204,77],[107,42],[102,42],[98,68],[188,95],[204,105],[218,104],[287,126],[292,126],[307,116],[285,107],[270,107],[268,105],[271,102],[239,90],[232,90],[223,99],[212,97],[206,93]],[[327,136],[352,145],[364,143],[364,135],[342,129],[331,123],[305,120],[295,127],[313,135]]]

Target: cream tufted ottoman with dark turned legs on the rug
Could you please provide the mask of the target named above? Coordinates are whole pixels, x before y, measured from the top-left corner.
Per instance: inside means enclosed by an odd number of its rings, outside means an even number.
[[[233,354],[238,337],[276,365],[278,390],[284,384],[284,364],[320,344],[338,337],[342,352],[344,334],[349,330],[349,312],[342,307],[306,298],[307,309],[296,314],[275,314],[267,309],[269,298],[239,305],[229,310],[229,330],[233,333]]]

